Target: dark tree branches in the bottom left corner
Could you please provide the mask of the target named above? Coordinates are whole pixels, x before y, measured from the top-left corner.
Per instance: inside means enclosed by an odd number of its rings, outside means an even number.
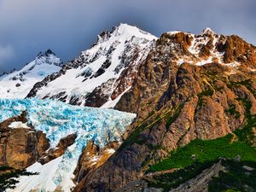
[[[0,192],[6,189],[15,189],[15,184],[20,176],[37,175],[38,173],[26,172],[26,170],[15,170],[9,166],[0,166]]]

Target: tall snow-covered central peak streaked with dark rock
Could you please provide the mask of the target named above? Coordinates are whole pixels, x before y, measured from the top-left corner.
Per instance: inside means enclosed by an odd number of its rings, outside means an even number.
[[[154,44],[153,35],[120,24],[104,31],[90,49],[43,81],[27,97],[49,98],[73,105],[111,108],[131,88],[138,66]]]

